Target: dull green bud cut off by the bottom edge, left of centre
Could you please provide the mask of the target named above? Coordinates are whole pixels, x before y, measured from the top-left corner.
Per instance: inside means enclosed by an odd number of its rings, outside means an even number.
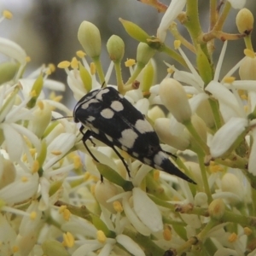
[[[42,244],[44,255],[47,256],[68,256],[67,250],[60,241],[44,241]]]

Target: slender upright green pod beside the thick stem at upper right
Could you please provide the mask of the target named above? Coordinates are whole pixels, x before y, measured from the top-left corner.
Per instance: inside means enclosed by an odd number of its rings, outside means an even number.
[[[196,53],[196,64],[201,79],[203,79],[205,84],[209,84],[212,81],[212,67],[201,47],[198,47]]]

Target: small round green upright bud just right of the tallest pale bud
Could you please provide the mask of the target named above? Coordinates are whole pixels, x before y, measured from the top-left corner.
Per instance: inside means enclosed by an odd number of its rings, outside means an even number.
[[[122,61],[125,54],[125,43],[122,38],[113,35],[107,42],[108,55],[113,63]]]

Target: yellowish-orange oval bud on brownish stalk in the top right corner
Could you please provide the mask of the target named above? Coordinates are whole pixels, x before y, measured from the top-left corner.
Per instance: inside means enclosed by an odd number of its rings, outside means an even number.
[[[236,26],[241,34],[249,34],[253,30],[253,22],[253,14],[246,8],[241,9],[236,15]]]

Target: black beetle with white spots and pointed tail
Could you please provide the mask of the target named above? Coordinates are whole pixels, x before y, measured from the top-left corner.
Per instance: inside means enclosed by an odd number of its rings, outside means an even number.
[[[123,161],[129,176],[129,168],[115,147],[148,166],[195,183],[172,164],[168,155],[160,148],[159,138],[143,114],[113,87],[93,90],[83,96],[73,110],[73,118],[76,123],[81,123],[84,146],[94,160],[95,156],[85,143],[90,137],[113,148]],[[88,129],[85,133],[84,128]]]

